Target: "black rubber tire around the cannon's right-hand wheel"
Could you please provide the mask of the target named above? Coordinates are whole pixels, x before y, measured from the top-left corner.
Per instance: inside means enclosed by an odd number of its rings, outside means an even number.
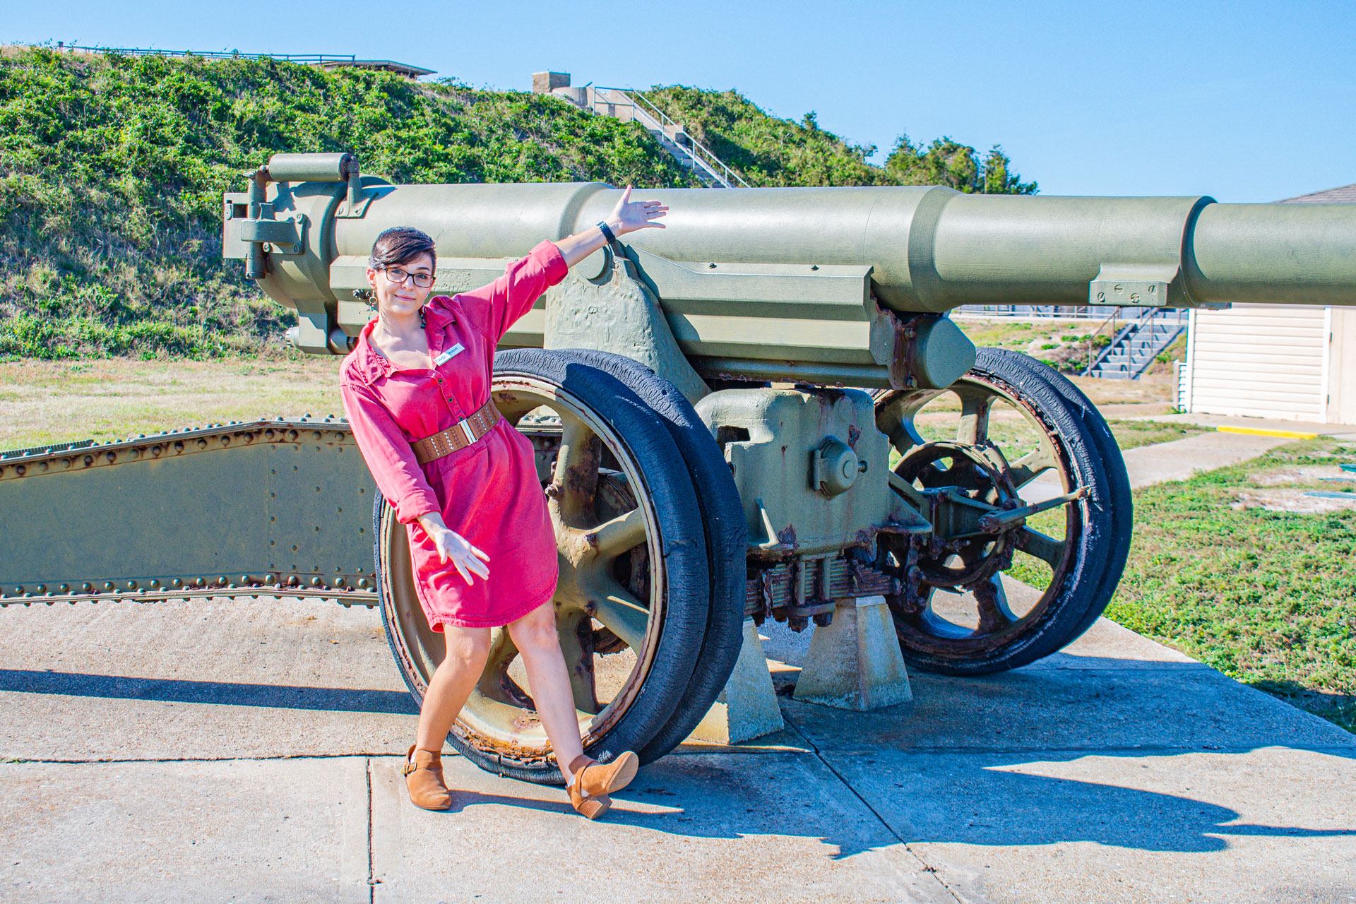
[[[1077,503],[1083,511],[1078,556],[1035,623],[1009,642],[968,659],[911,646],[910,638],[900,634],[904,660],[911,667],[942,675],[987,675],[1018,668],[1077,640],[1116,590],[1134,525],[1130,478],[1120,449],[1101,413],[1077,386],[1026,355],[1002,348],[980,348],[970,373],[1006,385],[1032,404],[1063,447],[1074,487],[1089,487],[1090,493]]]

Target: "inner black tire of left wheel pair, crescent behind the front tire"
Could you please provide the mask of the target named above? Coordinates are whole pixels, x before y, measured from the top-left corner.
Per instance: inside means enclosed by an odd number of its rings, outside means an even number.
[[[612,374],[659,415],[678,445],[687,473],[697,488],[706,529],[706,564],[711,571],[711,613],[701,653],[673,718],[640,751],[641,762],[654,762],[681,744],[724,690],[743,644],[749,526],[739,489],[720,446],[692,403],[671,382],[624,355],[583,348],[557,354],[582,361]]]

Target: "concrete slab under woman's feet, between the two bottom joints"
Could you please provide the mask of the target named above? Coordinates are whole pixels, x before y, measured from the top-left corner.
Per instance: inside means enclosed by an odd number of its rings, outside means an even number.
[[[597,823],[561,789],[445,763],[457,802],[430,813],[373,760],[378,904],[956,900],[814,756],[666,758]]]

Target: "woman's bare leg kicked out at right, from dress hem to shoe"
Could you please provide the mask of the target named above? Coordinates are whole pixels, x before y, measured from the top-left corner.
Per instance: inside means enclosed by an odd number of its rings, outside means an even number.
[[[527,687],[537,716],[546,729],[551,747],[556,751],[560,774],[570,782],[570,764],[583,756],[579,740],[579,720],[575,716],[575,695],[570,687],[570,672],[556,636],[556,607],[548,600],[509,625],[522,664],[527,670]]]

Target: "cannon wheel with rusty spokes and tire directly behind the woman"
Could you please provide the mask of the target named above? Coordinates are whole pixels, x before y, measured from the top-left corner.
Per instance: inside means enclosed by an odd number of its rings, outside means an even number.
[[[666,427],[613,377],[540,350],[500,352],[495,365],[495,404],[538,453],[560,565],[556,628],[584,749],[602,760],[639,751],[678,707],[711,607],[692,480]],[[381,504],[377,519],[386,637],[422,702],[442,634],[415,596],[405,527]],[[449,741],[483,768],[560,781],[507,630],[492,632]]]

